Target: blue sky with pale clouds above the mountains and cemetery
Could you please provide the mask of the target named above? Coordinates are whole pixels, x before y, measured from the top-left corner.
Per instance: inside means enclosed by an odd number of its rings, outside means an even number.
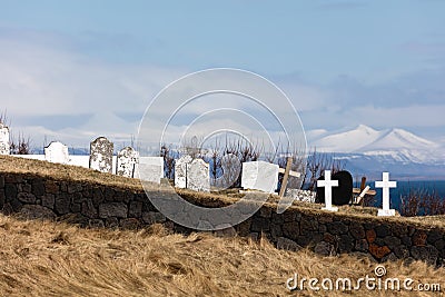
[[[0,1],[0,110],[34,145],[129,141],[151,98],[214,67],[257,72],[306,129],[445,141],[444,1]]]

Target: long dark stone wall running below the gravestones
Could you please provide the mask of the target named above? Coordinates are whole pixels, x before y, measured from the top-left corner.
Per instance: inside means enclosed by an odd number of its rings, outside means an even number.
[[[168,194],[158,190],[150,195],[156,198]],[[211,204],[215,207],[215,200]],[[201,201],[201,206],[206,202]],[[82,227],[136,229],[160,222],[175,231],[191,231],[166,219],[141,189],[33,175],[0,174],[0,209],[7,215],[59,219]],[[348,253],[378,261],[403,258],[445,264],[445,229],[428,228],[404,218],[360,217],[303,208],[276,214],[274,206],[265,205],[248,220],[216,234],[238,234],[254,239],[265,236],[278,248],[309,247],[320,255]]]

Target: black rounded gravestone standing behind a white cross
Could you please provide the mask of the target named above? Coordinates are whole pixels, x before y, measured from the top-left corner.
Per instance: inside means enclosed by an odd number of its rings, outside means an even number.
[[[325,176],[322,176],[318,180],[325,180]],[[338,187],[333,187],[333,204],[338,206],[349,204],[353,197],[353,176],[348,171],[343,170],[334,174],[332,180],[338,180]],[[315,201],[317,204],[325,202],[325,189],[323,187],[317,187]]]

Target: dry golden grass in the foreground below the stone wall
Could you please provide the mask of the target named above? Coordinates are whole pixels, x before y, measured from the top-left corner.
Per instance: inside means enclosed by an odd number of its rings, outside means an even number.
[[[286,280],[295,273],[320,279],[357,279],[374,277],[376,266],[368,258],[278,250],[265,240],[167,234],[157,225],[140,231],[81,229],[2,215],[0,248],[1,296],[307,296],[314,293],[286,288]],[[424,263],[404,266],[402,261],[385,266],[388,277],[411,277],[445,287],[445,268]],[[388,294],[362,288],[319,294]]]

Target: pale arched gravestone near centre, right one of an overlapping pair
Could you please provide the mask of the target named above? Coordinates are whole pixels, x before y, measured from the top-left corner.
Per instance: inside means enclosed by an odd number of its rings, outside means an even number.
[[[210,168],[202,159],[187,164],[187,189],[210,191]]]

